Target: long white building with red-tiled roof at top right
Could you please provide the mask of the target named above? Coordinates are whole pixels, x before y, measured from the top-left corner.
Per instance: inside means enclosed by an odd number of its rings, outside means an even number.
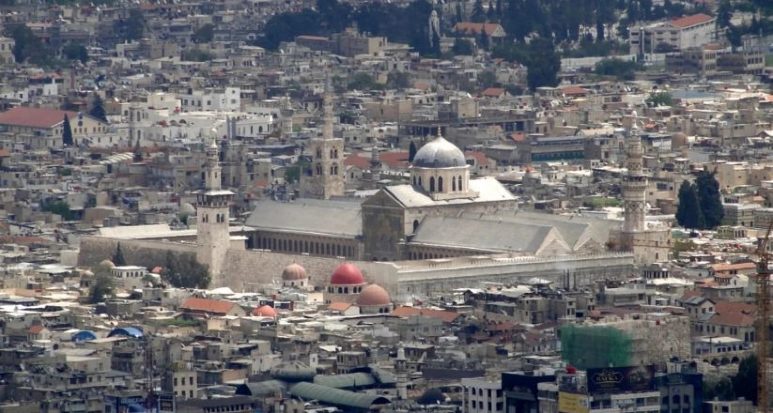
[[[710,15],[688,15],[668,22],[631,28],[631,54],[647,55],[656,52],[658,45],[687,49],[712,43],[716,39],[716,19]]]

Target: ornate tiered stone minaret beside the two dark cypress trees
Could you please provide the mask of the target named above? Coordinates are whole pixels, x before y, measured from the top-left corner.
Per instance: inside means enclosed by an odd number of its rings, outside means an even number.
[[[637,114],[632,113],[633,126],[625,139],[625,167],[628,169],[623,179],[623,206],[625,224],[623,233],[635,233],[646,230],[647,214],[647,176],[642,172],[642,138],[638,135]]]

